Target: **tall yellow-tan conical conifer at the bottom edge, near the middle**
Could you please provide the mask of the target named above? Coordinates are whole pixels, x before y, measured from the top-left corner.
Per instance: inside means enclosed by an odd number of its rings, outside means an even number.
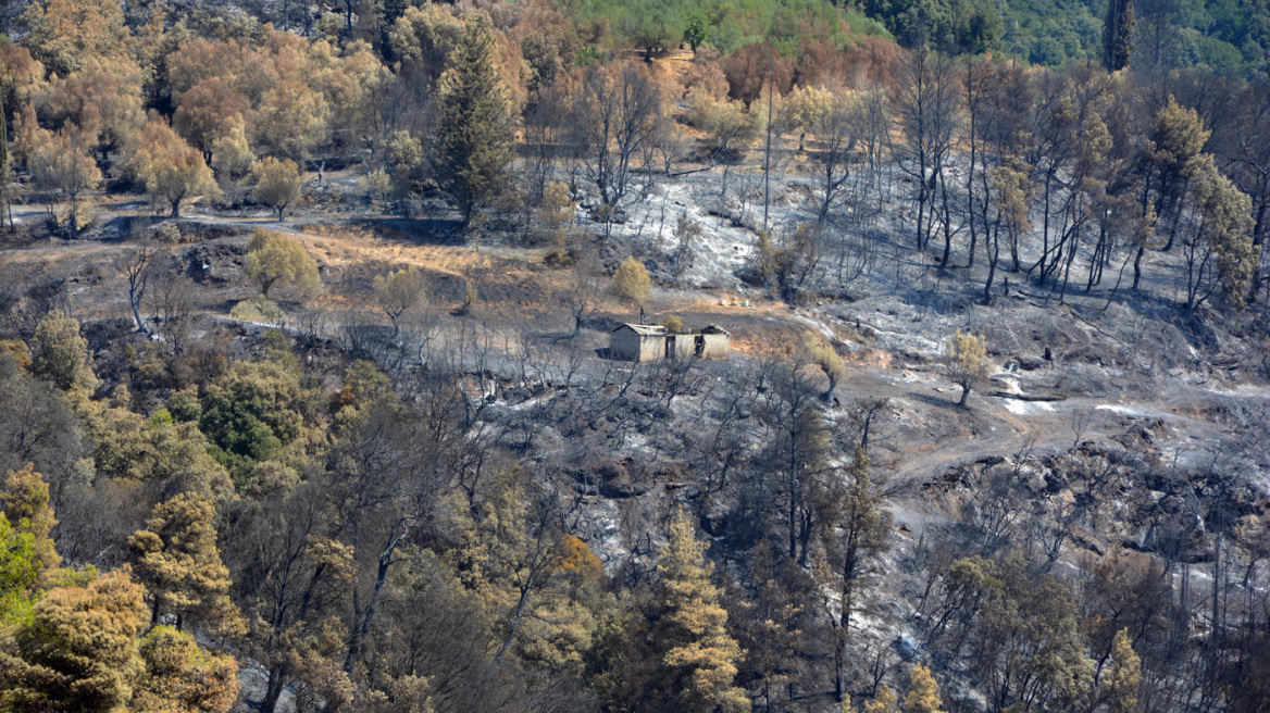
[[[733,683],[744,652],[728,633],[728,612],[711,581],[714,565],[681,509],[671,523],[671,540],[657,565],[662,577],[659,642],[662,665],[677,683],[679,710],[690,713],[749,709],[745,691]]]

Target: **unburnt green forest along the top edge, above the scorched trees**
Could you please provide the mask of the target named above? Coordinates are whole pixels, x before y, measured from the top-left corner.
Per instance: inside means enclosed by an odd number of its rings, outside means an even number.
[[[1139,0],[1134,5],[1139,70],[1201,69],[1250,77],[1266,71],[1270,9],[1256,0]],[[841,6],[841,9],[839,9]],[[991,49],[1050,67],[1102,56],[1104,0],[749,0],[743,3],[570,3],[568,11],[617,34],[658,46],[696,34],[721,52],[771,41],[791,53],[805,38],[841,44],[857,36],[894,37],[946,52]],[[685,34],[688,28],[691,33]]]

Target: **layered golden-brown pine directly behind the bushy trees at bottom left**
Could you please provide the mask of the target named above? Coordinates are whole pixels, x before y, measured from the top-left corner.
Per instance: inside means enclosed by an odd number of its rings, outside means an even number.
[[[216,549],[216,506],[183,492],[155,507],[146,527],[128,538],[137,579],[152,599],[150,623],[174,614],[177,628],[192,617],[220,632],[241,628],[230,601],[229,570]]]

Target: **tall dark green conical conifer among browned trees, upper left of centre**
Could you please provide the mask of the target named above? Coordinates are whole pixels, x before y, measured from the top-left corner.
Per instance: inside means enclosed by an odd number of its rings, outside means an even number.
[[[513,156],[507,93],[494,62],[489,20],[476,15],[441,79],[433,157],[437,181],[462,213],[464,228],[502,189]]]

